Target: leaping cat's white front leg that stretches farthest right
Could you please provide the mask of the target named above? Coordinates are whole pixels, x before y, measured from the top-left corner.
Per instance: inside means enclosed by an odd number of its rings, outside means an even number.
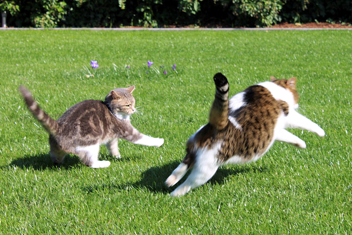
[[[296,111],[291,112],[287,117],[286,127],[308,130],[317,134],[320,137],[325,136],[324,130],[321,129],[318,124],[312,122],[311,120],[304,117],[300,113],[297,113]]]

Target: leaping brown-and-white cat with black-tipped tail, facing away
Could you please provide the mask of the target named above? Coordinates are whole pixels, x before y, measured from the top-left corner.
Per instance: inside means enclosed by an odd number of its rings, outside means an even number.
[[[206,183],[221,165],[258,160],[275,140],[306,148],[303,140],[285,128],[325,135],[316,123],[295,111],[298,108],[296,78],[272,77],[271,81],[250,86],[230,100],[226,77],[218,73],[214,81],[216,92],[209,123],[189,138],[186,157],[166,179],[166,185],[175,185],[189,168],[193,170],[171,196],[184,195]]]

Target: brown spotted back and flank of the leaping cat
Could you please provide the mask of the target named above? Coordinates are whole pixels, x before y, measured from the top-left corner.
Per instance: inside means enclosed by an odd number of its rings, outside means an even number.
[[[269,89],[250,86],[229,100],[228,125],[219,133],[224,138],[219,158],[227,161],[240,156],[254,161],[263,155],[272,142],[282,105]]]

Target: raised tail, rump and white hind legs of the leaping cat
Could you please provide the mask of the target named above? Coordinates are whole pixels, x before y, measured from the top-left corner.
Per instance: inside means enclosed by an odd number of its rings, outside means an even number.
[[[209,112],[209,123],[202,126],[189,138],[186,157],[165,181],[169,187],[173,186],[186,174],[188,169],[194,168],[187,180],[171,193],[172,196],[183,195],[191,188],[204,184],[218,169],[218,163],[214,156],[217,155],[221,146],[222,136],[220,133],[224,132],[229,124],[229,84],[227,78],[221,73],[215,74],[214,82],[215,99]]]

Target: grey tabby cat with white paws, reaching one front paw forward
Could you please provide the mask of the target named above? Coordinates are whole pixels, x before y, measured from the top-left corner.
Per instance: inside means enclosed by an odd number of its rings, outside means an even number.
[[[25,87],[19,90],[29,110],[49,133],[50,155],[55,164],[61,163],[66,153],[73,153],[87,166],[102,168],[110,162],[98,161],[101,144],[107,144],[109,152],[119,158],[119,138],[146,146],[164,143],[164,139],[141,134],[131,125],[130,115],[136,111],[134,88],[113,89],[105,101],[84,100],[71,106],[57,121],[40,109]]]

